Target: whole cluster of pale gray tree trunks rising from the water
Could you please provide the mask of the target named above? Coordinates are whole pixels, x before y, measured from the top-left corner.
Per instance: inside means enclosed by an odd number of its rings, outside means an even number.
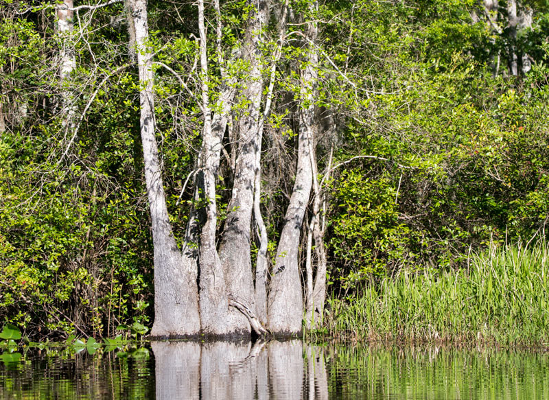
[[[141,82],[141,139],[145,180],[150,203],[154,242],[155,318],[151,336],[178,338],[250,336],[251,331],[264,335],[292,336],[301,332],[304,317],[303,285],[300,276],[299,245],[305,211],[315,183],[313,220],[309,231],[314,236],[317,251],[323,254],[318,223],[320,192],[316,181],[314,155],[315,91],[318,79],[318,49],[316,22],[308,21],[303,32],[305,56],[300,60],[301,93],[299,95],[299,132],[295,183],[285,214],[277,255],[268,268],[266,252],[268,238],[261,217],[261,144],[264,141],[264,121],[268,117],[273,80],[285,33],[288,1],[282,3],[283,21],[277,50],[270,62],[270,82],[264,82],[266,28],[269,22],[268,0],[250,1],[240,57],[248,70],[242,82],[240,97],[245,106],[233,110],[237,94],[235,78],[228,76],[223,64],[221,21],[218,14],[217,58],[222,73],[222,93],[211,106],[209,85],[209,55],[205,27],[205,3],[198,1],[200,38],[201,100],[204,118],[202,148],[196,174],[196,209],[189,216],[183,251],[174,238],[167,213],[159,162],[159,150],[154,126],[154,76],[152,51],[148,46],[148,23],[145,0],[128,0],[132,23],[130,37],[135,38],[139,80]],[[309,14],[318,8],[309,3]],[[219,3],[215,2],[219,13]],[[267,94],[265,94],[267,93]],[[213,111],[215,110],[215,112]],[[228,215],[218,233],[218,210],[215,185],[218,177],[223,138],[229,121],[237,115],[236,143],[233,143],[234,178]],[[307,224],[305,224],[306,226]],[[252,265],[253,226],[259,232],[259,255]],[[307,230],[307,229],[306,229]],[[309,246],[310,250],[310,246]],[[319,320],[325,294],[325,256],[318,257],[321,266],[316,274],[314,290],[307,291],[306,318],[309,325]],[[255,277],[254,272],[255,270]],[[312,287],[312,274],[309,274]],[[316,310],[316,316],[314,312]]]

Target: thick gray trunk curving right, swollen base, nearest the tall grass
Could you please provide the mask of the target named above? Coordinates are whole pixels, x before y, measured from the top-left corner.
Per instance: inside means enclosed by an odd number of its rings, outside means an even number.
[[[318,4],[309,5],[314,14]],[[301,104],[299,106],[299,139],[297,171],[294,189],[285,215],[285,224],[274,261],[269,301],[269,329],[279,335],[292,335],[301,331],[303,320],[303,292],[299,274],[299,242],[305,209],[311,193],[312,146],[314,138],[314,91],[318,80],[318,52],[316,22],[307,24],[307,58],[301,77]]]

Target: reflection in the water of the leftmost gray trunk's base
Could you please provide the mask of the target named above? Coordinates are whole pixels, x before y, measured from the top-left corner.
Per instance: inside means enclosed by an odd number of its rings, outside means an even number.
[[[156,399],[200,398],[200,344],[152,342]]]

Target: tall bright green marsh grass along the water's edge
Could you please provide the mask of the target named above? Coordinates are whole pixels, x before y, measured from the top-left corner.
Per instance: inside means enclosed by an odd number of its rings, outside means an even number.
[[[466,269],[402,271],[329,301],[332,336],[371,340],[549,343],[549,245],[491,246]]]

